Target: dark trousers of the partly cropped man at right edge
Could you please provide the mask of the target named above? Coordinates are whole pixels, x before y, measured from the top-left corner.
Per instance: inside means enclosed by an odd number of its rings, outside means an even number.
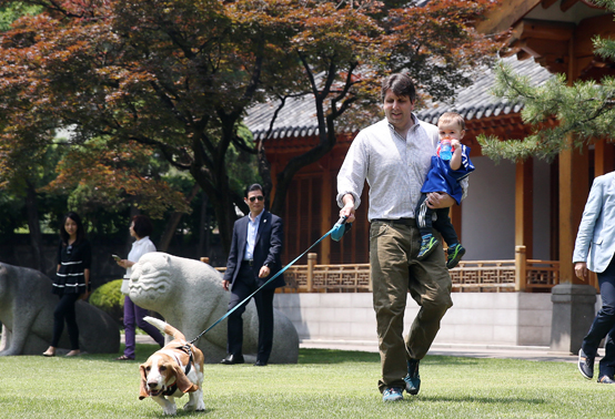
[[[613,378],[615,374],[615,257],[605,272],[597,274],[601,287],[602,308],[583,339],[583,351],[595,357],[601,340],[605,339],[605,356],[601,359],[599,376]]]

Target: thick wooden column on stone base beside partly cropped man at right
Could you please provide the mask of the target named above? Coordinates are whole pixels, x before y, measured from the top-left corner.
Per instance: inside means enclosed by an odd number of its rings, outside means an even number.
[[[574,274],[573,251],[589,194],[589,157],[585,146],[559,154],[559,283],[583,284]]]

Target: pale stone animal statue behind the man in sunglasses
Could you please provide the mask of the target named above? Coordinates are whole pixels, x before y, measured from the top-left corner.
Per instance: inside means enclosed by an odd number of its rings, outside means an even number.
[[[132,267],[130,298],[143,308],[160,313],[167,323],[181,330],[190,341],[226,313],[230,293],[222,288],[218,270],[200,260],[148,253]],[[255,360],[259,341],[259,316],[253,300],[243,318],[243,350],[248,360]],[[270,364],[296,364],[299,335],[281,311],[273,314],[273,348]],[[220,362],[226,356],[226,320],[224,319],[195,345],[205,362]]]

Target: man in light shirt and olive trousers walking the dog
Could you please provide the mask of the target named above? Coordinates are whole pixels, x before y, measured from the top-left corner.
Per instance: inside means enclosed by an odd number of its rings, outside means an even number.
[[[347,216],[351,223],[365,181],[370,185],[370,265],[383,401],[402,400],[404,389],[419,394],[419,362],[427,354],[440,320],[453,305],[442,244],[424,259],[417,259],[421,233],[414,208],[436,151],[438,131],[412,113],[415,95],[406,74],[384,80],[382,102],[386,117],[359,133],[337,175],[340,216]],[[462,182],[464,191],[466,185],[467,180]],[[431,208],[443,208],[455,201],[444,193],[430,193],[427,202]],[[409,289],[421,309],[404,341]]]

